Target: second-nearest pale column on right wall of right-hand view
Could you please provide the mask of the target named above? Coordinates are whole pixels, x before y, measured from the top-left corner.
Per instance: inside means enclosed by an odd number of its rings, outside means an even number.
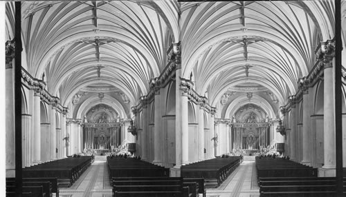
[[[302,121],[303,121],[303,127],[302,127],[302,152],[303,152],[303,159],[301,161],[302,164],[304,165],[310,165],[310,140],[311,136],[309,135],[310,132],[310,114],[309,114],[309,90],[307,87],[304,87],[303,90],[303,115],[302,115]]]

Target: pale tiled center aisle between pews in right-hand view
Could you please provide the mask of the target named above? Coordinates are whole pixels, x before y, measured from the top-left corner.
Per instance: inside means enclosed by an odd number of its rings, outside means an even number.
[[[257,185],[257,174],[254,158],[245,158],[244,161],[230,174],[218,188],[207,189],[208,197],[257,197],[260,196],[260,187]]]

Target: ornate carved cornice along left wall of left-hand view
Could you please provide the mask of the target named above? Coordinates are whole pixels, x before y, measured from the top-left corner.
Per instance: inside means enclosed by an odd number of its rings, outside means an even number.
[[[68,108],[60,104],[60,98],[57,96],[52,96],[47,90],[44,89],[46,87],[46,83],[44,83],[42,80],[33,78],[33,76],[31,76],[24,68],[21,68],[21,83],[29,87],[31,90],[35,90],[35,93],[39,94],[43,101],[49,105],[52,105],[57,112],[62,114],[67,113]]]

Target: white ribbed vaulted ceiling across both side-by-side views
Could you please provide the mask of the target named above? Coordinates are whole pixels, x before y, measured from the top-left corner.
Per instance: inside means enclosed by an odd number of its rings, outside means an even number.
[[[10,24],[8,16],[7,39]],[[38,79],[44,74],[48,91],[78,109],[74,116],[100,103],[129,116],[179,41],[183,77],[192,75],[212,106],[235,112],[242,106],[230,101],[245,102],[251,92],[252,103],[267,101],[277,116],[313,67],[318,43],[333,38],[334,1],[22,2],[23,67]],[[221,105],[230,92],[238,94]],[[79,94],[81,103],[73,103]]]

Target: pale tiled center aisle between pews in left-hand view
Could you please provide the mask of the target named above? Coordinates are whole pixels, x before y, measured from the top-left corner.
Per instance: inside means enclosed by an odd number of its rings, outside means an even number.
[[[100,159],[100,160],[99,160]],[[95,158],[91,166],[71,187],[61,188],[62,197],[111,197],[107,160]]]

